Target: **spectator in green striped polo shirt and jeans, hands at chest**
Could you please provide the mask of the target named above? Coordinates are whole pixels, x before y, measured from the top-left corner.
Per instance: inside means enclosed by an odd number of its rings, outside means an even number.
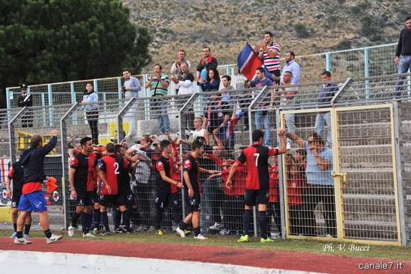
[[[157,116],[158,121],[158,136],[162,134],[170,134],[170,120],[167,114],[168,102],[163,97],[168,94],[170,79],[162,73],[160,64],[154,65],[154,75],[151,75],[149,82],[145,84],[145,88],[150,88],[150,95],[153,97],[152,114]]]

